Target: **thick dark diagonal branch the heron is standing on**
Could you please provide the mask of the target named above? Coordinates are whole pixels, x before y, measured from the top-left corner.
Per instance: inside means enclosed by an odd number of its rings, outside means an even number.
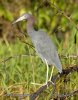
[[[53,83],[55,83],[56,80],[59,79],[60,77],[62,77],[64,75],[67,76],[69,73],[72,73],[74,71],[78,72],[78,66],[77,65],[74,65],[74,66],[72,66],[72,67],[70,67],[68,69],[64,69],[61,74],[57,73],[55,76],[52,77],[51,81]],[[30,100],[35,100],[47,88],[47,85],[48,86],[52,85],[52,82],[48,82],[47,84],[45,84],[42,87],[40,87],[36,92],[32,93],[30,95]],[[51,98],[52,98],[52,95],[51,95]]]

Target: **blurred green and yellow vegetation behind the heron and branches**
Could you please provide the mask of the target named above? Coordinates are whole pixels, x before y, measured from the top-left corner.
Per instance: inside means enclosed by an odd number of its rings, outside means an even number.
[[[78,0],[0,0],[0,98],[6,93],[33,93],[46,78],[46,65],[35,56],[26,22],[12,25],[23,13],[35,17],[36,30],[43,29],[55,43],[63,69],[78,66]],[[31,56],[33,54],[34,56]],[[27,56],[24,56],[27,55]],[[12,58],[12,59],[11,59]],[[51,70],[49,71],[50,74]],[[57,73],[54,69],[54,75]],[[56,94],[78,89],[78,72],[57,81]],[[62,90],[61,90],[62,88]],[[45,90],[39,100],[48,100],[52,88]],[[56,97],[55,94],[55,97]],[[70,96],[69,100],[77,100]],[[24,98],[29,100],[29,98]]]

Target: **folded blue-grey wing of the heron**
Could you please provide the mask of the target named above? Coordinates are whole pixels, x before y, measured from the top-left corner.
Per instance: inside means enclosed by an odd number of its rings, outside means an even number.
[[[40,56],[40,58],[49,65],[54,65],[61,72],[62,67],[58,57],[58,53],[56,47],[50,37],[43,31],[39,31],[38,37],[36,38],[35,48],[36,52]]]

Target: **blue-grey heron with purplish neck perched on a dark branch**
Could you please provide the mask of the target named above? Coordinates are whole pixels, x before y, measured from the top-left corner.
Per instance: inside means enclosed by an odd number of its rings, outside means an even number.
[[[52,72],[49,79],[50,81],[54,66],[57,68],[59,73],[62,73],[62,65],[57,53],[56,46],[54,45],[50,36],[46,32],[44,32],[41,29],[38,31],[34,29],[35,18],[32,14],[25,13],[21,15],[18,19],[16,19],[13,22],[13,24],[22,20],[27,20],[27,26],[26,26],[27,33],[32,40],[37,55],[42,59],[42,61],[47,66],[47,74],[46,74],[46,84],[47,84],[49,65],[50,66],[52,65]]]

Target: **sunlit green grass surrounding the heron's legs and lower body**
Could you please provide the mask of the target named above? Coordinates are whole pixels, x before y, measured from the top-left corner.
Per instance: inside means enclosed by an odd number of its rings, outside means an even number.
[[[66,49],[63,48],[64,43],[55,43],[58,46],[59,54],[75,54],[75,47],[72,42],[68,43],[68,47]],[[70,46],[69,46],[70,45]],[[34,50],[16,40],[15,43],[0,43],[0,62],[10,56],[22,54],[34,54]],[[78,65],[78,60],[74,60],[73,58],[64,59],[61,57],[61,62],[63,69],[73,66],[75,64]],[[49,75],[51,72],[51,68],[49,71]],[[57,73],[56,68],[54,69],[54,74]],[[70,93],[78,88],[78,73],[73,72],[69,74],[66,79],[70,79],[67,83],[64,82],[64,78],[60,81],[57,81],[56,91],[59,94]],[[3,94],[5,93],[33,93],[40,86],[31,84],[40,83],[43,84],[46,79],[46,65],[41,61],[38,56],[20,56],[15,57],[10,60],[7,60],[5,63],[0,63],[0,98],[2,100],[16,100],[14,97],[5,97]],[[45,90],[39,97],[39,100],[48,100],[50,96],[52,87]],[[70,97],[70,100],[75,100],[76,97]],[[28,100],[26,98],[25,100]]]

